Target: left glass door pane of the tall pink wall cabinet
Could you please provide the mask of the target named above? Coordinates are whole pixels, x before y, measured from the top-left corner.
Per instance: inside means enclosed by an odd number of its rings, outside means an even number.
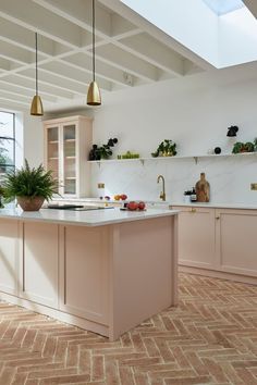
[[[53,177],[59,178],[59,128],[47,129],[47,169],[53,171]]]

